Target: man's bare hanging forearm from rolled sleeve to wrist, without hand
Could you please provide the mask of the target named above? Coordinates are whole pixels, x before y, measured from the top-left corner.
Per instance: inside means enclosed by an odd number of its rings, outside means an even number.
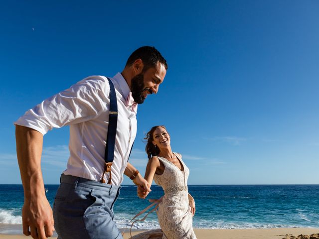
[[[24,200],[31,196],[45,196],[41,172],[43,135],[34,129],[16,125],[15,138]]]

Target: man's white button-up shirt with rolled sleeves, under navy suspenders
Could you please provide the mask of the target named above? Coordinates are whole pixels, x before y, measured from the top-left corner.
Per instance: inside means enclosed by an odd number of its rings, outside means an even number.
[[[130,150],[136,137],[136,113],[127,106],[130,88],[118,73],[111,78],[117,95],[118,123],[113,185],[120,185]],[[90,76],[69,89],[44,100],[27,111],[14,124],[33,128],[43,135],[53,127],[70,126],[70,157],[65,175],[100,181],[104,171],[104,154],[109,123],[110,85],[104,76]],[[105,174],[107,182],[109,173]]]

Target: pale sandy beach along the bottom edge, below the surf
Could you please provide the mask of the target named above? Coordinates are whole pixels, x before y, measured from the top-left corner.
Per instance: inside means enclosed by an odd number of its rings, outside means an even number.
[[[198,239],[283,239],[285,236],[311,235],[319,233],[318,229],[310,228],[275,228],[275,229],[194,229]],[[139,232],[134,232],[135,235]],[[124,239],[129,239],[129,233],[125,233]],[[22,235],[0,234],[0,239],[23,239]],[[28,237],[31,238],[31,237]],[[56,239],[56,238],[52,238]]]

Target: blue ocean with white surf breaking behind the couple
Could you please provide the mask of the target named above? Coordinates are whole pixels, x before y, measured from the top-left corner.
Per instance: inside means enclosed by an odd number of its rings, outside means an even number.
[[[58,185],[45,188],[52,206]],[[319,227],[319,185],[189,185],[188,190],[196,203],[194,228]],[[162,195],[162,189],[152,185],[149,198],[158,199]],[[114,206],[118,227],[128,228],[135,214],[149,205],[148,200],[137,197],[136,186],[123,185]],[[22,206],[22,185],[0,185],[0,233],[16,233],[22,224]],[[133,227],[154,228],[159,228],[155,212]]]

